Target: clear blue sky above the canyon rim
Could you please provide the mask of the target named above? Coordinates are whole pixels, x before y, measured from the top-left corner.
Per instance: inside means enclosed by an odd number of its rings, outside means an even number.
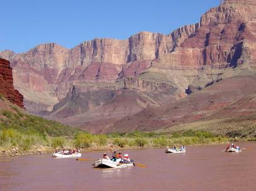
[[[72,48],[94,38],[126,39],[140,31],[169,34],[198,23],[219,0],[8,0],[1,2],[0,51],[42,43]]]

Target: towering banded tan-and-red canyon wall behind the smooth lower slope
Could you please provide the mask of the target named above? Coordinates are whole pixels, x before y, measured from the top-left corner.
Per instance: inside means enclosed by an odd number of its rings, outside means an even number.
[[[225,78],[254,75],[255,12],[256,0],[226,0],[198,24],[169,35],[141,32],[127,40],[93,39],[72,49],[41,44],[1,56],[11,60],[14,86],[30,112],[51,111],[49,118],[69,118],[69,124],[90,116],[75,125],[111,129],[123,116],[182,100]],[[128,103],[134,108],[130,112]],[[121,114],[106,115],[113,106]]]

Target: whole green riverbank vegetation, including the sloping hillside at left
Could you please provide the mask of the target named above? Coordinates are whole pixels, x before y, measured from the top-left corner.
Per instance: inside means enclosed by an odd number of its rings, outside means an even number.
[[[129,132],[93,135],[88,132],[28,115],[18,108],[0,111],[0,150],[54,150],[56,148],[159,148],[168,145],[226,143],[228,138],[201,130],[175,133]]]

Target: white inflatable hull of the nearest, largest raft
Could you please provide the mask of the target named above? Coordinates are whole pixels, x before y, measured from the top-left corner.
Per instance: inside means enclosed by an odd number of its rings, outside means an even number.
[[[119,163],[119,162],[114,162],[112,160],[100,158],[93,164],[94,168],[125,168],[125,167],[133,167],[133,162],[129,163]]]

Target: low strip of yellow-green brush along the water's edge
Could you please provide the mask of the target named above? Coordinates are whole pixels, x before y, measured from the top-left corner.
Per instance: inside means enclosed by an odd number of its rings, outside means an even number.
[[[92,135],[77,131],[74,136],[53,137],[47,134],[19,132],[15,129],[0,130],[0,148],[9,150],[18,147],[19,150],[38,148],[160,148],[168,145],[208,145],[226,143],[229,139],[214,136],[208,132],[186,131],[173,135],[159,135],[155,133],[132,132],[126,134],[113,133],[111,135]]]

